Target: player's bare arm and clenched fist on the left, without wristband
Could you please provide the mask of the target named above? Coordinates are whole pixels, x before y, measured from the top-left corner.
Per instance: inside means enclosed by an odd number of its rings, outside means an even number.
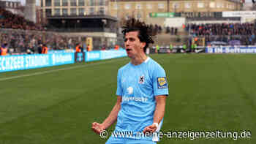
[[[121,96],[117,96],[116,105],[114,105],[113,109],[111,110],[108,117],[103,121],[102,124],[99,124],[97,122],[92,123],[91,129],[99,134],[105,129],[108,129],[109,126],[111,126],[117,119],[117,115],[119,110],[121,109]]]

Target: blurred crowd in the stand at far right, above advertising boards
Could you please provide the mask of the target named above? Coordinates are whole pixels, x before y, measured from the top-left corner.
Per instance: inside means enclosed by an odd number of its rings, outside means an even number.
[[[240,45],[254,45],[256,42],[254,23],[188,24],[186,30],[194,37],[205,37],[206,43],[219,41],[230,45],[236,41]]]

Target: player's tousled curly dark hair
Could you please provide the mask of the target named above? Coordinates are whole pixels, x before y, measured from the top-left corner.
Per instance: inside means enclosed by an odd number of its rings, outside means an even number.
[[[122,27],[122,33],[125,35],[130,31],[138,31],[138,38],[140,42],[146,42],[145,47],[143,48],[144,52],[150,43],[154,43],[152,39],[152,29],[146,25],[146,23],[136,20],[135,18],[130,18],[125,21],[124,26]]]

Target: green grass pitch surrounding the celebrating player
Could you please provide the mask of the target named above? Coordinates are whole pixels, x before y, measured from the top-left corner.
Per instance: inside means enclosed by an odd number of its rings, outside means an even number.
[[[151,55],[167,73],[163,132],[252,132],[251,138],[167,138],[159,144],[256,143],[256,55]],[[129,58],[0,73],[0,144],[105,143],[91,131],[116,102]],[[114,126],[108,131],[113,130]]]

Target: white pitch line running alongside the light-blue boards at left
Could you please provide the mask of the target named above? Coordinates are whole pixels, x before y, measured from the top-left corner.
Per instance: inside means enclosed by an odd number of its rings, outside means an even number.
[[[127,59],[127,58],[124,58]],[[121,60],[124,60],[121,59]],[[5,77],[5,78],[0,78],[0,81],[4,81],[4,80],[12,80],[15,78],[20,78],[20,77],[30,77],[30,76],[34,76],[34,75],[43,75],[43,74],[48,74],[51,72],[59,72],[61,70],[69,70],[69,69],[76,69],[76,68],[80,68],[80,67],[89,67],[89,66],[95,66],[95,65],[99,65],[99,64],[108,64],[108,63],[112,63],[114,61],[121,61],[120,59],[116,60],[112,60],[112,61],[105,61],[105,62],[99,62],[99,63],[94,63],[94,64],[86,64],[83,66],[74,66],[74,67],[66,67],[66,68],[61,68],[61,69],[54,69],[54,70],[48,70],[48,71],[44,71],[44,72],[34,72],[32,74],[26,74],[26,75],[18,75],[18,76],[13,76],[13,77]]]

